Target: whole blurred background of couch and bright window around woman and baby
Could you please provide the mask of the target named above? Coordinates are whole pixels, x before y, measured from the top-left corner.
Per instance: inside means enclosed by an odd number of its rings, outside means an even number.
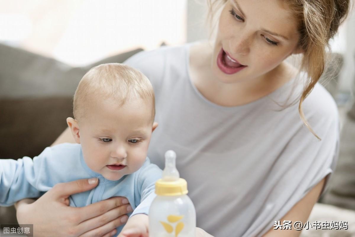
[[[92,66],[207,39],[206,11],[206,0],[0,0],[0,158],[33,157],[49,146],[66,128],[77,83]],[[336,73],[326,87],[342,134],[332,194],[323,202],[355,210],[354,9],[331,48],[327,70]],[[322,214],[311,218],[318,221],[327,216],[322,211],[340,213],[317,208]],[[354,214],[341,213],[355,228]],[[0,208],[4,220],[16,222],[13,210]]]

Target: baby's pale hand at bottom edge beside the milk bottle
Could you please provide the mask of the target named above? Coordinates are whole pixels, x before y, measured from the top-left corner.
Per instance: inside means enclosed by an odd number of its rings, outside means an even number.
[[[147,215],[134,215],[127,221],[118,237],[148,237],[148,226]]]

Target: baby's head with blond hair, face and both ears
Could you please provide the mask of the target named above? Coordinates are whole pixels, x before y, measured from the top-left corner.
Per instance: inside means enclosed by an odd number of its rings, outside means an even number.
[[[153,87],[140,71],[118,63],[92,68],[76,89],[73,114],[67,124],[94,172],[118,180],[143,165],[158,124]]]

